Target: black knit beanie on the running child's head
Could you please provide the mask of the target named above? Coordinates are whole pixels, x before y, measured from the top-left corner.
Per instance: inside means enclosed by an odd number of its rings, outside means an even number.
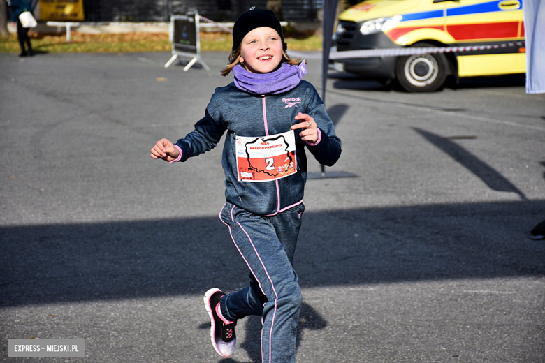
[[[233,52],[238,49],[246,34],[260,27],[275,29],[280,35],[280,38],[282,38],[282,41],[284,41],[284,34],[282,34],[280,21],[273,10],[257,9],[253,7],[246,13],[242,13],[233,26]]]

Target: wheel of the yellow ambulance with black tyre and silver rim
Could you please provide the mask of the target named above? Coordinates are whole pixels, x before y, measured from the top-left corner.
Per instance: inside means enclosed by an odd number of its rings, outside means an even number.
[[[428,43],[417,43],[413,47],[434,47]],[[433,92],[441,88],[446,80],[448,61],[444,54],[414,54],[399,57],[395,76],[400,86],[409,92]]]

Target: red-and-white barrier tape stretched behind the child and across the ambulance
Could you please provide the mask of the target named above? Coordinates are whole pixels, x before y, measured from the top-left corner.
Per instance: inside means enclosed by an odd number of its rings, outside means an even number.
[[[217,22],[214,22],[206,17],[199,15],[203,22],[215,24],[219,29],[223,29],[228,33],[233,33],[233,30],[224,27]],[[330,52],[329,59],[354,59],[354,58],[371,58],[371,57],[395,57],[400,55],[414,54],[432,54],[432,53],[457,53],[457,52],[474,52],[477,50],[490,50],[505,47],[520,47],[524,45],[524,41],[514,43],[504,43],[495,45],[469,45],[466,47],[399,47],[399,48],[379,48],[368,50],[345,50],[344,52]],[[305,58],[305,59],[321,59],[321,52],[296,52],[289,51],[290,57]]]

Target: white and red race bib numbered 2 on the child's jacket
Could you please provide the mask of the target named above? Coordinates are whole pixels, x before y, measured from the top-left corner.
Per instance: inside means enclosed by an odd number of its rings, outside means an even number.
[[[259,138],[236,137],[238,181],[269,182],[297,172],[293,131]]]

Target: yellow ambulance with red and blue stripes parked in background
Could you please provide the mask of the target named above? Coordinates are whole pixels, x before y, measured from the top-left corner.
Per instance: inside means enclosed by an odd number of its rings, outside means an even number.
[[[524,40],[522,0],[368,0],[340,14],[337,51],[500,45]],[[340,59],[344,71],[397,82],[407,91],[460,77],[526,72],[524,45],[405,57]]]

